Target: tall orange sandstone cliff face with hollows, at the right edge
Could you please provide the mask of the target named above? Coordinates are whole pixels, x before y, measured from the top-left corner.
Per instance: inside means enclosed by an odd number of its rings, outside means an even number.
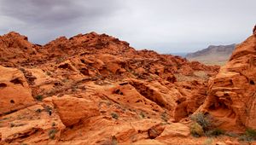
[[[230,61],[209,81],[201,110],[226,130],[256,129],[256,37],[236,46]]]

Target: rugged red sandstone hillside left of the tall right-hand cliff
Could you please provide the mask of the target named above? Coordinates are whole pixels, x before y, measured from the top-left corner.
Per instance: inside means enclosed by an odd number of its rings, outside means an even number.
[[[0,64],[21,70],[27,84],[19,86],[20,92],[32,90],[26,101],[44,98],[0,116],[1,121],[16,116],[0,122],[0,144],[202,144],[189,136],[188,125],[171,121],[187,118],[201,106],[207,80],[218,67],[137,51],[96,32],[57,38],[44,46],[30,44],[16,33],[0,39],[10,44],[0,49],[5,53]],[[8,54],[9,47],[22,55]],[[18,126],[11,127],[10,122]]]

